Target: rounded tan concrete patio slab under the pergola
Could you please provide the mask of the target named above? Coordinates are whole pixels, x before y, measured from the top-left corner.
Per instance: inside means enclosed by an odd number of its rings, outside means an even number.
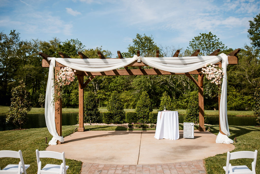
[[[235,148],[216,144],[216,135],[194,131],[194,139],[154,138],[155,131],[85,131],[64,138],[64,143],[47,151],[65,152],[65,157],[87,163],[137,165],[200,160]]]

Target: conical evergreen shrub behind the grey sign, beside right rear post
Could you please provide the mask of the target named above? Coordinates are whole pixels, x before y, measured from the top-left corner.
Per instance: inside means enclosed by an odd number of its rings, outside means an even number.
[[[199,96],[197,91],[191,92],[186,115],[184,116],[184,122],[199,123]],[[204,112],[204,123],[207,122],[207,117]]]

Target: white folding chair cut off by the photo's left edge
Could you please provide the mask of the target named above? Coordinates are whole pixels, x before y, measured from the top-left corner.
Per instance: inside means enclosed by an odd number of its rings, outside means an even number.
[[[0,169],[0,173],[8,173],[8,174],[27,174],[26,170],[30,167],[29,164],[24,164],[22,151],[0,151],[0,158],[20,158],[19,164],[8,164],[2,170]]]

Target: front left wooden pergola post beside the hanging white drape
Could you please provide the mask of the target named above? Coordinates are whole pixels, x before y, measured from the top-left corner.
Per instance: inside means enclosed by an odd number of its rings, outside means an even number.
[[[55,67],[55,81],[57,79],[56,71],[61,70],[61,67]],[[58,94],[60,95],[60,93]],[[62,136],[62,100],[58,99],[55,102],[55,125],[56,130],[59,136]],[[60,144],[60,141],[57,141],[57,144]]]

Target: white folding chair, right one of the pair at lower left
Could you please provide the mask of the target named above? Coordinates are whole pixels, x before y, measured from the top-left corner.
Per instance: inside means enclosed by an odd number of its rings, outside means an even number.
[[[65,163],[65,153],[59,153],[59,152],[53,152],[53,151],[38,151],[36,149],[36,158],[37,158],[37,165],[38,165],[38,172],[40,173],[59,173],[59,174],[67,174],[67,170],[69,166],[66,166]],[[61,159],[62,163],[61,165],[56,164],[46,164],[42,169],[42,162],[40,161],[40,158],[55,158],[55,159]],[[64,170],[65,169],[65,170]]]

